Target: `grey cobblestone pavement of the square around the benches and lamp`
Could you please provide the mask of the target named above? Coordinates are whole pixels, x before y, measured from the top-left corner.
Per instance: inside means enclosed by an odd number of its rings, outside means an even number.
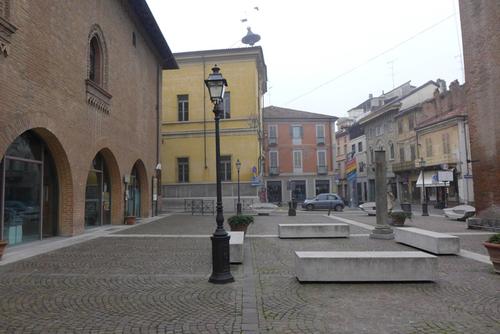
[[[323,214],[256,217],[225,285],[208,283],[211,243],[199,237],[214,216],[173,215],[1,266],[0,333],[500,332],[500,275],[459,256],[438,258],[434,283],[299,283],[294,251],[413,250],[358,226],[349,239],[270,236],[279,223],[332,222]],[[482,237],[466,236],[470,250]]]

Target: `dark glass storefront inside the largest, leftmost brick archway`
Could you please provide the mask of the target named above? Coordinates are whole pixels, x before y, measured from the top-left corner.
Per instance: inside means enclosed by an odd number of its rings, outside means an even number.
[[[26,131],[0,163],[1,240],[9,245],[58,234],[58,181],[44,141]]]

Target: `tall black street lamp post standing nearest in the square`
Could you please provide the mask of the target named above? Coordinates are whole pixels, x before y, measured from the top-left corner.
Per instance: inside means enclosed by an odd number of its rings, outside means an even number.
[[[222,102],[227,81],[219,73],[220,68],[215,65],[212,73],[205,80],[205,85],[210,94],[210,100],[214,104],[215,120],[215,171],[217,174],[217,228],[212,235],[212,275],[208,279],[211,283],[224,284],[234,282],[229,267],[229,234],[224,229],[224,215],[222,210],[222,187],[220,169],[220,134],[219,120],[222,113]]]

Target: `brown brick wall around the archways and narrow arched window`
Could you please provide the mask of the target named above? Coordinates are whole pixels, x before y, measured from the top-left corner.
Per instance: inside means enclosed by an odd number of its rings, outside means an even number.
[[[85,185],[103,152],[112,183],[112,223],[123,222],[123,176],[142,166],[142,213],[150,214],[156,166],[158,60],[149,40],[118,0],[11,2],[17,27],[0,55],[0,156],[23,132],[47,143],[60,184],[62,235],[84,229]],[[86,102],[89,33],[98,25],[108,57],[109,114]],[[136,35],[136,47],[132,34]]]

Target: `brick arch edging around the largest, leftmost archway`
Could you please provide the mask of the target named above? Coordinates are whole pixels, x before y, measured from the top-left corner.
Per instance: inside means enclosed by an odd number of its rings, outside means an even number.
[[[23,128],[20,126],[20,128]],[[58,214],[57,214],[57,222],[58,222],[58,230],[59,235],[70,236],[74,235],[75,227],[73,225],[73,176],[71,172],[70,163],[68,160],[68,156],[66,151],[64,150],[61,142],[57,138],[57,136],[44,127],[34,127],[27,128],[19,131],[19,133],[14,136],[13,130],[11,129],[10,137],[13,137],[12,143],[18,136],[22,135],[27,131],[33,131],[36,133],[42,141],[47,146],[52,159],[54,161],[57,182],[59,186],[58,193]],[[8,145],[10,145],[10,143]],[[2,150],[2,156],[8,148],[8,145],[5,149]]]

